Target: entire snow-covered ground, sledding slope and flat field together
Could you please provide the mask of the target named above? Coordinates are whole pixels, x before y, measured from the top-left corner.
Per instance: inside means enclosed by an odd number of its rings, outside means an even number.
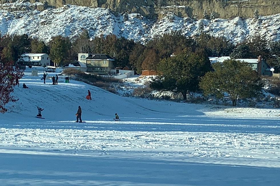
[[[279,109],[120,97],[29,75],[0,115],[1,186],[280,183]],[[85,123],[75,122],[79,105]]]

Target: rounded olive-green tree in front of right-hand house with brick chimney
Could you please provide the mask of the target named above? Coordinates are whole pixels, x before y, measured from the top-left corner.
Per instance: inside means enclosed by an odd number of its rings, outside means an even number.
[[[215,71],[207,72],[199,86],[204,95],[224,97],[225,93],[236,106],[237,99],[258,97],[262,94],[263,83],[250,64],[236,60],[225,60],[213,64]]]

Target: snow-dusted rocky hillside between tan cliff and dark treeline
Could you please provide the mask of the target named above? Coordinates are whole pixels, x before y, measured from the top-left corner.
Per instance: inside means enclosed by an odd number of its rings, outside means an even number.
[[[1,34],[29,34],[49,42],[52,36],[63,35],[74,38],[83,29],[89,31],[91,38],[101,34],[116,34],[135,41],[146,42],[155,35],[161,35],[172,30],[182,30],[186,36],[198,33],[199,21],[190,18],[180,18],[172,13],[152,21],[140,14],[121,15],[109,9],[79,7],[65,5],[64,7],[38,11],[34,7],[40,3],[5,3],[0,7]],[[11,7],[15,10],[11,11]],[[18,8],[19,7],[19,8]],[[260,16],[259,20],[236,17],[234,19],[203,19],[205,31],[213,36],[225,36],[233,42],[239,42],[253,36],[264,35],[268,40],[280,39],[280,14]]]

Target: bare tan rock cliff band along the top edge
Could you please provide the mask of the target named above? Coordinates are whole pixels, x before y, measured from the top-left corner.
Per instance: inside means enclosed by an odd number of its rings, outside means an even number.
[[[1,3],[11,3],[15,0],[0,0]],[[44,6],[62,7],[66,4],[102,7],[115,12],[140,13],[149,18],[156,18],[166,11],[180,17],[203,17],[205,10],[215,17],[253,17],[255,9],[260,15],[280,13],[280,0],[29,0],[40,2]]]

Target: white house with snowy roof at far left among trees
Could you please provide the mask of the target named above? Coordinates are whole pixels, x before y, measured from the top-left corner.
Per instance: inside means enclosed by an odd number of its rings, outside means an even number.
[[[19,61],[28,62],[33,66],[49,66],[51,60],[48,54],[22,54]]]

